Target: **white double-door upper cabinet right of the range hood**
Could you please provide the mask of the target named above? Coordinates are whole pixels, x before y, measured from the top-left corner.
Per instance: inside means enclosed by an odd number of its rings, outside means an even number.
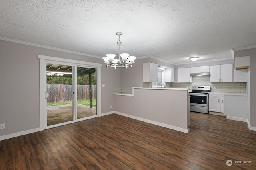
[[[233,64],[210,66],[210,82],[233,82]]]

